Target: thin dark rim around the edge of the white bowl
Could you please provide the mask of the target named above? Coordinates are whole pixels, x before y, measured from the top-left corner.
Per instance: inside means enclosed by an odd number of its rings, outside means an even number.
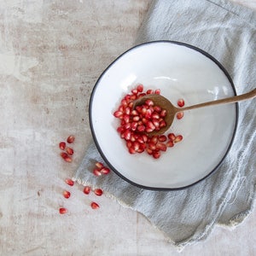
[[[211,176],[213,172],[217,171],[218,170],[218,167],[221,166],[221,164],[223,163],[225,157],[227,156],[227,154],[230,152],[230,148],[233,144],[233,141],[234,141],[234,138],[236,136],[236,128],[237,128],[237,121],[238,121],[238,113],[239,113],[239,109],[238,109],[238,103],[236,102],[236,123],[235,123],[235,127],[234,127],[234,131],[233,131],[233,135],[231,137],[231,140],[230,140],[230,145],[229,147],[227,148],[223,158],[219,161],[218,165],[215,166],[211,172],[209,172],[206,176],[202,177],[201,179],[199,179],[198,181],[194,182],[194,183],[191,183],[189,185],[186,185],[186,186],[183,186],[183,187],[178,187],[178,188],[157,188],[157,187],[148,187],[148,186],[145,186],[145,185],[142,185],[142,184],[139,184],[139,183],[135,183],[133,181],[131,181],[130,179],[128,179],[127,177],[123,176],[118,170],[116,170],[112,164],[108,161],[108,158],[105,156],[105,154],[102,152],[102,148],[100,147],[99,143],[97,142],[97,138],[96,138],[96,133],[94,131],[94,128],[93,128],[93,124],[92,124],[92,115],[91,115],[91,108],[92,108],[92,103],[93,103],[93,98],[94,98],[94,94],[96,92],[96,87],[97,85],[99,84],[100,80],[102,79],[102,77],[104,76],[105,73],[107,73],[108,69],[110,67],[113,66],[113,64],[119,60],[119,58],[121,58],[123,55],[125,55],[126,53],[130,52],[131,50],[133,49],[137,49],[139,47],[142,47],[143,45],[148,45],[148,44],[158,44],[158,43],[166,43],[166,44],[178,44],[178,45],[183,45],[185,47],[188,47],[190,49],[194,49],[198,52],[200,52],[202,55],[205,55],[207,56],[207,58],[209,58],[210,60],[212,60],[213,62],[215,62],[215,64],[217,64],[217,66],[224,72],[225,76],[227,79],[229,79],[230,81],[230,84],[231,84],[231,87],[232,87],[232,90],[234,92],[234,95],[236,96],[236,88],[235,88],[235,85],[233,84],[233,80],[231,79],[230,77],[230,74],[226,71],[226,69],[224,68],[224,66],[219,62],[217,61],[214,57],[212,57],[212,55],[208,54],[206,51],[204,51],[203,49],[200,49],[194,45],[191,45],[191,44],[186,44],[186,43],[183,43],[183,42],[177,42],[177,41],[168,41],[168,40],[159,40],[159,41],[150,41],[150,42],[147,42],[147,43],[143,43],[143,44],[137,44],[136,46],[134,47],[131,47],[130,49],[127,49],[123,54],[119,55],[112,63],[110,63],[108,65],[108,67],[103,71],[103,73],[101,74],[101,76],[96,80],[96,84],[94,85],[94,88],[91,92],[91,95],[90,95],[90,103],[89,103],[89,120],[90,120],[90,131],[91,131],[91,134],[92,134],[92,137],[93,137],[93,140],[94,142],[96,143],[96,148],[98,149],[99,153],[101,154],[102,156],[102,159],[106,162],[106,164],[109,166],[109,168],[111,168],[111,170],[113,172],[115,172],[119,177],[121,177],[122,179],[124,179],[126,182],[128,183],[131,183],[132,185],[138,187],[138,188],[141,188],[141,189],[148,189],[148,190],[160,190],[160,191],[168,191],[168,190],[180,190],[180,189],[187,189],[191,186],[194,186],[196,183],[200,183],[202,180],[205,180],[207,177]]]

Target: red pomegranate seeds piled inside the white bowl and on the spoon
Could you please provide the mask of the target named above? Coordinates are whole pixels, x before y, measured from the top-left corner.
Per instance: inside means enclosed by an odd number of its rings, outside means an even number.
[[[143,92],[143,84],[138,84],[137,88],[131,90],[131,93],[121,100],[119,108],[114,111],[113,116],[120,121],[117,131],[120,137],[125,140],[130,154],[146,152],[152,155],[154,159],[158,159],[162,152],[165,152],[167,148],[173,147],[183,137],[182,135],[176,136],[173,133],[160,136],[148,135],[150,132],[159,131],[166,126],[166,109],[154,105],[154,102],[149,99],[143,105],[132,109],[133,102],[147,94],[160,94],[160,90]],[[179,99],[177,106],[182,108],[184,100]],[[177,119],[182,119],[183,112],[177,113],[176,117]],[[95,174],[101,175],[102,173],[96,170]]]

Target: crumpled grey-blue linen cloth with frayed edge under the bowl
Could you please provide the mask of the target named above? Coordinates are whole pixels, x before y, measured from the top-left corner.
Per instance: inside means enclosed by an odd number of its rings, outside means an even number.
[[[165,39],[204,49],[223,64],[241,94],[256,85],[255,26],[253,10],[229,1],[160,0],[151,4],[136,44]],[[73,178],[101,187],[123,206],[141,212],[178,248],[202,241],[215,224],[236,226],[253,208],[256,101],[241,102],[239,108],[236,138],[223,164],[189,189],[140,189],[114,172],[95,177],[92,166],[102,157],[94,143]]]

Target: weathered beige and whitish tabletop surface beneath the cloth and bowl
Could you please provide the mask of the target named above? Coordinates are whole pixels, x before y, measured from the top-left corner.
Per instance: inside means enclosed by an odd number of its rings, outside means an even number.
[[[233,1],[256,9],[256,0]],[[177,253],[141,214],[80,186],[62,196],[91,140],[90,91],[129,49],[149,0],[0,0],[1,255],[255,255],[256,210]],[[72,163],[58,143],[70,134]],[[101,208],[94,211],[90,201]],[[69,212],[58,213],[65,205]]]

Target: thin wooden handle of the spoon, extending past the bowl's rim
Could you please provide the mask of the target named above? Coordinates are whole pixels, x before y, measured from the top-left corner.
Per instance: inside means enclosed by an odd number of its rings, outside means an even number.
[[[251,90],[251,91],[249,91],[245,94],[241,94],[239,96],[232,96],[229,98],[220,99],[220,100],[216,100],[216,101],[212,101],[212,102],[204,102],[204,103],[200,103],[200,104],[195,104],[195,105],[185,107],[185,108],[178,108],[178,110],[185,111],[185,110],[194,109],[194,108],[203,108],[203,107],[219,105],[219,104],[241,102],[241,101],[245,101],[247,99],[253,98],[255,96],[256,96],[256,88],[254,90]]]

